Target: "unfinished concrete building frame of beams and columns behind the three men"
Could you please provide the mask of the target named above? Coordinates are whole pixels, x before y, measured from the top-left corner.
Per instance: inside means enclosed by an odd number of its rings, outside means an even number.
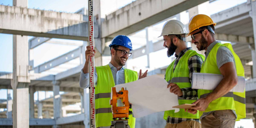
[[[172,3],[166,1],[168,0],[136,0],[101,18],[100,7],[103,5],[100,4],[100,0],[94,0],[94,44],[97,50],[95,66],[104,64],[104,58],[110,56],[108,43],[116,35],[133,35],[145,30],[145,35],[140,37],[145,39],[145,43],[135,43],[140,47],[132,51],[133,55],[130,59],[145,55],[148,74],[164,76],[168,65],[156,69],[150,68],[150,61],[154,61],[150,60],[150,53],[165,47],[160,39],[157,41],[150,39],[148,29],[154,29],[160,35],[161,29],[154,26],[155,24],[168,18],[180,20],[180,12],[183,11],[186,11],[190,18],[198,14],[199,4],[209,3],[208,0],[176,0]],[[0,73],[0,89],[7,89],[5,94],[7,99],[0,99],[0,108],[6,109],[0,112],[0,126],[88,128],[88,91],[79,87],[79,76],[84,66],[84,52],[88,40],[86,9],[70,14],[28,9],[27,5],[27,0],[14,0],[13,6],[0,5],[0,33],[13,35],[13,72]],[[246,81],[247,118],[255,119],[256,1],[247,0],[246,3],[211,15],[211,18],[217,23],[215,38],[232,42],[234,51],[242,61],[245,78],[248,79]],[[27,41],[27,36],[34,38]],[[83,43],[55,42],[51,41],[51,38],[81,40]],[[187,42],[189,41],[191,39],[187,38]],[[34,48],[47,42],[76,45],[78,48],[34,67]],[[195,49],[194,46],[192,47]],[[251,61],[254,65],[249,63]],[[54,75],[44,74],[45,71],[60,67],[61,64],[76,66]],[[135,67],[134,70],[137,68]],[[46,99],[35,100],[34,93],[40,91],[52,91],[53,94]],[[67,116],[68,113],[75,114]],[[136,128],[155,128],[154,125],[164,127],[163,113],[154,113],[136,121]]]

